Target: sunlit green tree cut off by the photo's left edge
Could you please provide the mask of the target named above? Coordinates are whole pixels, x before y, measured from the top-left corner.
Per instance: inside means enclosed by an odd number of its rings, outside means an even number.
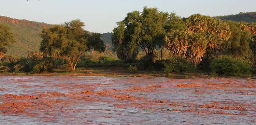
[[[6,47],[10,47],[11,44],[15,42],[15,37],[13,33],[10,32],[10,28],[0,24],[0,60],[7,51]]]

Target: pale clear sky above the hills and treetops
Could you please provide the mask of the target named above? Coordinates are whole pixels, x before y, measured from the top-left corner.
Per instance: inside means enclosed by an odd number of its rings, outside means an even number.
[[[90,32],[112,32],[116,22],[144,6],[175,12],[182,17],[195,13],[209,16],[256,11],[256,0],[0,0],[0,15],[47,24],[72,19],[85,22]]]

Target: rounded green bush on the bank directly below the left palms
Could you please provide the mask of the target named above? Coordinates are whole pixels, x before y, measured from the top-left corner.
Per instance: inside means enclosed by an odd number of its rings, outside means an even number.
[[[193,72],[195,70],[194,63],[181,56],[171,57],[169,63],[165,64],[165,67],[164,71],[167,76],[169,73]]]

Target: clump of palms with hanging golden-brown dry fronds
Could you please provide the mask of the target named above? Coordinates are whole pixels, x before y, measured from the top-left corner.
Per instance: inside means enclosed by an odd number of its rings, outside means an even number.
[[[231,34],[226,23],[210,16],[194,14],[184,21],[186,28],[168,31],[165,40],[173,56],[182,56],[196,65],[208,61]]]

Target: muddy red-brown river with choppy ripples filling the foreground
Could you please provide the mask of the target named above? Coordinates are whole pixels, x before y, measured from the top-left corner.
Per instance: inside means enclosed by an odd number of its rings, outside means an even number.
[[[0,124],[256,124],[256,81],[0,76]]]

